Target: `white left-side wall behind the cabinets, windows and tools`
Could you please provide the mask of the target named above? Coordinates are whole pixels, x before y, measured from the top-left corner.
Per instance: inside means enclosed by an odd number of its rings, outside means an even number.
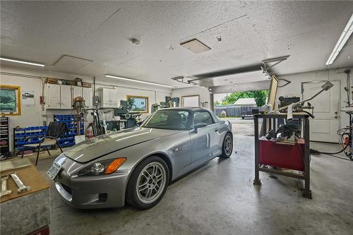
[[[5,74],[11,73],[11,74]],[[40,76],[42,78],[28,78],[26,76]],[[22,68],[18,66],[1,66],[0,84],[1,85],[19,85],[21,90],[34,90],[35,92],[35,106],[21,107],[22,112],[20,116],[10,117],[10,144],[11,151],[13,150],[13,128],[16,126],[43,126],[44,121],[49,123],[53,121],[53,114],[72,114],[70,109],[42,109],[40,104],[40,96],[42,95],[42,83],[44,78],[61,78],[73,80],[76,77],[83,78],[83,81],[92,83],[93,78],[87,76],[78,76],[68,73],[58,73],[54,71],[42,71],[40,69]],[[163,102],[165,96],[171,96],[172,90],[168,88],[160,88],[152,85],[138,85],[138,83],[125,83],[121,80],[113,78],[96,78],[96,90],[100,87],[112,88],[118,90],[118,104],[120,100],[126,100],[126,95],[139,95],[148,97],[149,111],[151,104]],[[143,114],[143,118],[148,114]],[[112,113],[103,115],[107,121],[112,119]],[[92,121],[91,115],[87,116],[88,122]]]

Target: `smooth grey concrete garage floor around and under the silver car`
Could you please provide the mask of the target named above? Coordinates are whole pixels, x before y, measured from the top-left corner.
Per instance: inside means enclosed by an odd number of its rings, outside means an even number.
[[[261,172],[263,185],[253,186],[253,120],[232,123],[232,157],[213,159],[172,183],[150,210],[73,209],[45,175],[54,156],[41,154],[38,169],[51,183],[51,234],[352,234],[353,162],[312,156],[312,200],[301,197],[299,180],[285,176]],[[327,143],[311,147],[340,149]]]

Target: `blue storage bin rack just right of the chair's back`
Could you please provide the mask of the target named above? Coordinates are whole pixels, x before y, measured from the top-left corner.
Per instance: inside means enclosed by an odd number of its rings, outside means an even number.
[[[56,115],[54,114],[54,121],[64,121],[66,123],[66,127],[68,131],[66,135],[59,139],[59,143],[61,147],[70,147],[75,145],[75,135],[77,134],[77,115]],[[83,135],[84,124],[83,121],[80,121],[80,135]]]

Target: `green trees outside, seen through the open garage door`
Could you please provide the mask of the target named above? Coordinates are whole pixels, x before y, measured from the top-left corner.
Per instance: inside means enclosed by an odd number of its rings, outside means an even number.
[[[234,104],[240,98],[253,98],[258,107],[262,107],[266,104],[268,96],[268,90],[252,90],[247,92],[232,92],[230,95],[227,95],[222,99],[222,103],[215,102],[215,106],[217,105],[226,105],[226,104]]]

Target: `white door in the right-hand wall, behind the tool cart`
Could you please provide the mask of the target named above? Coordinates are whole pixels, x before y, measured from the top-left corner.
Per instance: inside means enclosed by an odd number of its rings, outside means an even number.
[[[330,81],[333,88],[322,92],[309,101],[314,109],[310,119],[310,140],[338,143],[337,130],[340,128],[340,81]],[[315,95],[325,81],[303,83],[303,99]]]

